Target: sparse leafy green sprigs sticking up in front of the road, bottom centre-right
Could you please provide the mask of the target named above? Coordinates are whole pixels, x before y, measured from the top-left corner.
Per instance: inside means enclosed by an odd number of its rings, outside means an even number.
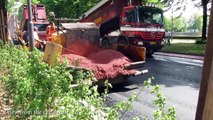
[[[161,92],[159,85],[154,85],[154,86],[151,85],[153,80],[154,80],[154,77],[151,77],[148,80],[144,81],[142,85],[142,89],[139,93],[134,93],[132,96],[129,97],[128,101],[122,101],[116,105],[116,108],[119,108],[119,110],[124,110],[120,119],[128,110],[132,109],[132,103],[140,99],[139,95],[144,90],[144,88],[152,88],[150,93],[156,96],[155,99],[153,100],[153,104],[157,109],[153,113],[154,120],[176,120],[175,107],[169,107],[167,109],[166,97]],[[150,118],[148,118],[147,116],[144,116],[143,119],[149,120]],[[139,120],[139,118],[133,117],[132,120]]]

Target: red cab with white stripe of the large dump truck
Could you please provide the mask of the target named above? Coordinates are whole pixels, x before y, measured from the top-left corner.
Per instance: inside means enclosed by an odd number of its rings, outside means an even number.
[[[121,14],[118,43],[144,46],[152,54],[162,47],[165,36],[163,11],[152,6],[127,6]],[[125,36],[125,39],[124,39]]]

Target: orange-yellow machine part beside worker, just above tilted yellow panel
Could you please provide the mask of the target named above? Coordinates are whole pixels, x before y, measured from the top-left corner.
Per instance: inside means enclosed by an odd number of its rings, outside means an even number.
[[[52,34],[52,43],[54,44],[59,44],[63,47],[66,47],[66,39],[65,39],[65,34],[63,32],[55,32]]]

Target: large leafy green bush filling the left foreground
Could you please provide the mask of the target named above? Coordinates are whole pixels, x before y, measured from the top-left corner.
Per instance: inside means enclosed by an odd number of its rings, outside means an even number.
[[[38,50],[29,53],[11,44],[1,43],[0,51],[0,71],[6,72],[0,80],[13,101],[11,119],[118,118],[116,109],[104,107],[97,86],[85,84],[94,79],[91,71],[67,70],[66,62],[49,66]]]

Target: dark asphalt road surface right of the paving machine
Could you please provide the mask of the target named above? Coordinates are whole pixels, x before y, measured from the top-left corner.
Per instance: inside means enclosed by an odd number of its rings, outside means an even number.
[[[149,73],[143,76],[130,77],[120,85],[110,90],[108,105],[127,100],[133,93],[141,91],[144,80],[154,77],[153,84],[159,84],[167,98],[167,107],[175,106],[177,120],[194,120],[201,80],[202,60],[153,55],[146,60]],[[133,110],[126,112],[122,120],[130,120],[138,116],[140,119],[153,119],[156,107],[152,103],[155,96],[150,89],[145,89],[139,95],[139,100],[133,102]]]

